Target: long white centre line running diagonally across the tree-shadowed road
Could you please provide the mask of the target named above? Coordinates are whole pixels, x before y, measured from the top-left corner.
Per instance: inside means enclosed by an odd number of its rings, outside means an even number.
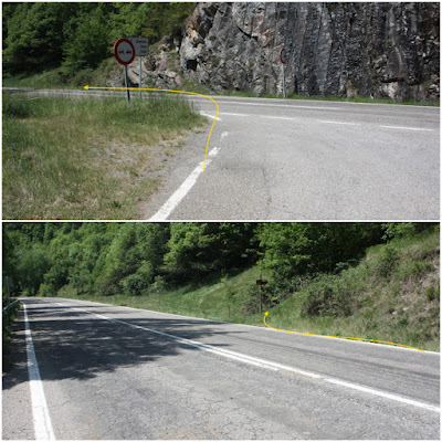
[[[56,304],[63,305],[61,303],[56,303]],[[186,338],[181,338],[179,336],[170,335],[168,333],[154,330],[154,329],[147,328],[147,327],[141,327],[141,326],[136,325],[136,324],[130,324],[130,323],[127,323],[125,320],[114,319],[114,318],[110,318],[108,316],[99,315],[97,313],[94,313],[94,312],[91,312],[91,311],[87,311],[87,309],[84,309],[84,308],[77,308],[77,307],[71,307],[71,308],[73,308],[75,311],[86,312],[86,313],[93,314],[93,315],[95,315],[95,316],[97,316],[97,317],[99,317],[101,319],[104,319],[104,320],[109,320],[109,322],[113,322],[113,323],[124,324],[124,325],[128,325],[129,327],[139,328],[139,329],[145,330],[145,332],[154,333],[154,334],[161,335],[161,336],[167,336],[167,337],[169,337],[169,338],[171,338],[173,340],[177,340],[179,343],[182,343],[185,345],[189,345],[191,347],[197,347],[197,348],[200,348],[201,350],[213,352],[213,354],[217,354],[217,355],[220,355],[220,356],[224,356],[224,357],[230,358],[230,359],[235,359],[235,360],[239,360],[239,361],[241,361],[243,364],[253,365],[253,366],[265,368],[265,369],[272,370],[272,371],[295,372],[297,375],[307,376],[307,377],[313,378],[313,379],[318,379],[318,380],[322,380],[322,381],[325,381],[325,382],[328,382],[328,383],[334,383],[334,385],[337,385],[337,386],[340,386],[340,387],[350,388],[352,390],[362,391],[365,393],[369,393],[369,394],[372,394],[372,396],[378,396],[378,397],[381,397],[381,398],[385,398],[385,399],[390,399],[390,400],[393,400],[393,401],[397,401],[397,402],[401,402],[401,403],[406,403],[406,404],[409,404],[409,406],[423,408],[425,410],[435,411],[438,413],[440,413],[440,411],[441,411],[440,407],[435,407],[435,406],[432,406],[430,403],[415,401],[413,399],[409,399],[409,398],[406,398],[406,397],[402,397],[402,396],[391,394],[391,393],[388,393],[388,392],[385,392],[385,391],[380,391],[380,390],[376,390],[376,389],[372,389],[372,388],[369,388],[369,387],[364,387],[364,386],[359,386],[357,383],[347,382],[347,381],[344,381],[344,380],[340,380],[340,379],[337,379],[337,378],[322,376],[322,375],[317,375],[317,373],[312,372],[312,371],[306,371],[306,370],[302,370],[302,369],[298,369],[298,368],[295,368],[295,367],[284,366],[284,365],[278,364],[278,362],[273,362],[273,361],[270,361],[270,360],[255,358],[253,356],[243,355],[241,352],[217,348],[217,347],[213,347],[211,345],[200,343],[198,340],[186,339]]]

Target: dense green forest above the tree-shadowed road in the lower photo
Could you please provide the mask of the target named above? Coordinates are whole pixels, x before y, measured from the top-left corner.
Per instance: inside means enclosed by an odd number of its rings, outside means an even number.
[[[15,294],[149,296],[259,264],[276,302],[368,246],[431,223],[3,223],[3,278]]]

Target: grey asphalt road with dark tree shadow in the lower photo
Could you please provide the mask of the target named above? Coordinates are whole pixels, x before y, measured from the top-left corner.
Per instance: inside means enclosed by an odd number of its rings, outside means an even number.
[[[62,298],[25,305],[41,382],[28,379],[21,312],[4,440],[34,439],[33,419],[70,440],[440,439],[439,354]]]

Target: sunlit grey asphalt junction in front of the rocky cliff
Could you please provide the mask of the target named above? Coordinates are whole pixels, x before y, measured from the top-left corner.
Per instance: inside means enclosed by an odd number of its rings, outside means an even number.
[[[207,133],[193,137],[144,218],[439,219],[439,108],[214,98],[211,164],[186,185]],[[208,99],[196,106],[215,115]]]

